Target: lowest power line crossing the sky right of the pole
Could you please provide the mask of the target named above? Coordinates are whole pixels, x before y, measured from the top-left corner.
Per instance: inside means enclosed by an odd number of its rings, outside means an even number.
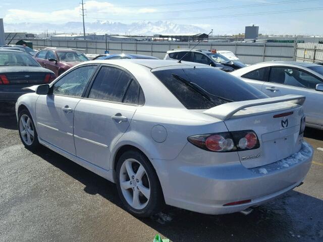
[[[241,17],[241,16],[257,16],[257,15],[264,15],[264,14],[283,14],[283,13],[310,12],[310,11],[318,11],[318,10],[323,10],[323,6],[318,7],[318,8],[271,11],[271,12],[259,12],[259,13],[252,13],[252,14],[218,15],[218,16],[207,16],[207,17],[201,16],[201,17],[189,17],[189,18],[168,18],[167,20],[216,19],[216,18],[230,18],[230,17]],[[107,20],[106,18],[89,18],[89,19]],[[124,20],[124,19],[109,19],[109,20]],[[141,21],[142,19],[127,19],[127,20]],[[160,19],[149,19],[149,20],[160,20]]]

